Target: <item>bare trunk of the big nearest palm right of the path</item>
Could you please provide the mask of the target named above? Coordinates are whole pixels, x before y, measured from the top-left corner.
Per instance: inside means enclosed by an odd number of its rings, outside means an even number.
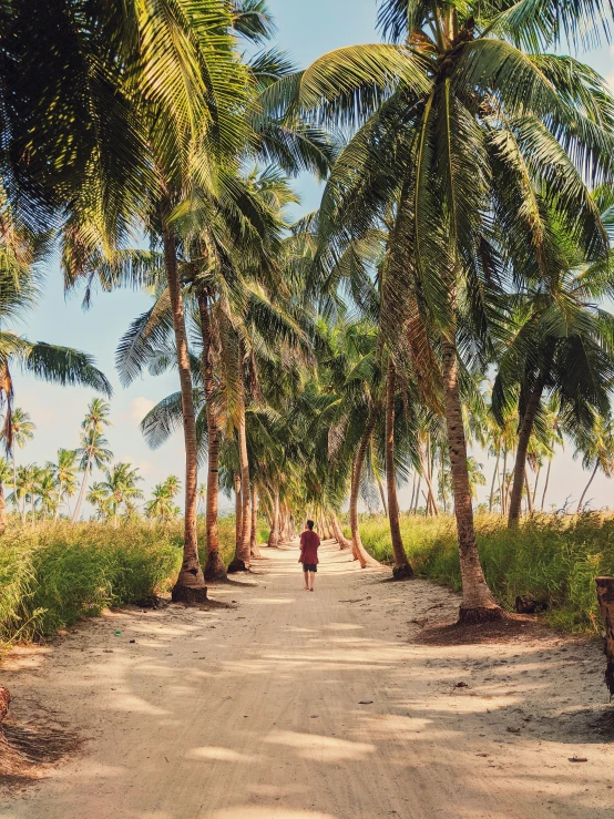
[[[504,616],[503,610],[497,605],[492,592],[488,587],[475,544],[473,506],[467,467],[467,441],[458,381],[458,354],[454,340],[442,338],[441,352],[443,359],[446,424],[462,577],[462,603],[459,621],[462,623],[479,623],[501,620]]]

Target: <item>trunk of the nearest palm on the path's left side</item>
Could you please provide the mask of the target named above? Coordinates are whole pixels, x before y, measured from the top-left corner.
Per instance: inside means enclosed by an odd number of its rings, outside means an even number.
[[[168,225],[167,212],[161,208],[162,238],[164,243],[164,265],[173,313],[175,348],[182,393],[183,436],[185,441],[185,513],[183,562],[177,581],[173,587],[173,601],[198,602],[207,597],[205,577],[198,560],[198,535],[196,533],[196,504],[198,491],[198,465],[196,442],[196,417],[192,370],[185,331],[185,316],[177,270],[176,237],[174,227]]]

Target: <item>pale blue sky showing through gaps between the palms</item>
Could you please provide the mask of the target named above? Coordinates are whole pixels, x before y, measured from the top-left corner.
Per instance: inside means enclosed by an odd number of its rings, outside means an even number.
[[[269,7],[278,25],[277,41],[305,66],[331,49],[377,40],[375,31],[375,0],[269,0]],[[604,76],[614,73],[614,59],[608,48],[600,49],[582,58]],[[310,180],[299,180],[298,190],[305,209],[318,204],[318,186]],[[163,449],[152,452],[142,440],[139,421],[161,398],[177,390],[176,376],[145,377],[129,389],[123,389],[114,370],[114,351],[120,336],[131,320],[147,309],[149,299],[139,293],[117,291],[99,294],[89,311],[81,308],[81,297],[64,299],[62,278],[57,263],[47,269],[44,298],[39,307],[14,329],[32,340],[49,341],[78,347],[92,352],[101,369],[113,382],[113,427],[109,430],[111,449],[117,461],[136,464],[144,477],[143,489],[175,473],[183,478],[182,441],[178,436]],[[84,389],[63,390],[42,385],[28,376],[16,375],[18,406],[30,412],[37,424],[35,439],[25,450],[18,452],[21,463],[53,460],[59,447],[76,447],[79,427],[92,395]],[[561,504],[565,498],[577,499],[586,481],[586,474],[572,453],[557,455],[554,461],[550,499]],[[479,460],[484,473],[490,475],[492,464],[485,455]],[[604,478],[595,479],[590,496],[595,505],[611,504],[613,487]],[[401,491],[401,506],[409,502],[407,490]],[[223,501],[229,509],[231,503]]]

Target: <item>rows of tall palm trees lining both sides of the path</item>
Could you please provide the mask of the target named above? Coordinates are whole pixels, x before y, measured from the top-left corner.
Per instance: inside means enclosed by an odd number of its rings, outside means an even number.
[[[212,579],[225,571],[228,475],[241,501],[232,570],[249,565],[258,503],[275,543],[307,508],[335,531],[348,494],[367,565],[358,500],[376,487],[397,575],[410,575],[396,481],[418,468],[436,513],[437,459],[461,618],[503,616],[473,526],[475,373],[492,375],[511,526],[531,494],[526,464],[548,459],[548,401],[583,452],[610,423],[613,323],[600,304],[612,285],[614,101],[595,72],[551,53],[603,37],[610,7],[381,0],[382,42],[295,71],[266,49],[260,0],[35,6],[12,3],[1,34],[7,213],[30,247],[54,224],[65,286],[84,284],[88,304],[96,285],[155,294],[117,365],[124,382],[171,366],[180,377],[143,422],[154,446],[184,437],[174,597],[206,597],[199,458]],[[247,60],[246,42],[265,50]],[[327,181],[318,213],[290,226],[286,175],[301,171]],[[149,252],[131,248],[142,229]],[[49,356],[23,344],[21,360],[42,371]],[[222,474],[221,457],[233,462]]]

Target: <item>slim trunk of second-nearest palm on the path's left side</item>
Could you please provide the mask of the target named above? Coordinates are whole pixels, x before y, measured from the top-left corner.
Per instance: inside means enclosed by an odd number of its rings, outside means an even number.
[[[205,293],[198,294],[198,314],[201,316],[201,335],[203,337],[203,390],[205,393],[205,412],[207,418],[207,496],[206,496],[206,532],[207,560],[205,580],[217,581],[226,576],[226,566],[219,555],[219,528],[217,505],[219,502],[219,448],[222,430],[215,407],[215,383],[213,380],[213,338],[208,299]]]

